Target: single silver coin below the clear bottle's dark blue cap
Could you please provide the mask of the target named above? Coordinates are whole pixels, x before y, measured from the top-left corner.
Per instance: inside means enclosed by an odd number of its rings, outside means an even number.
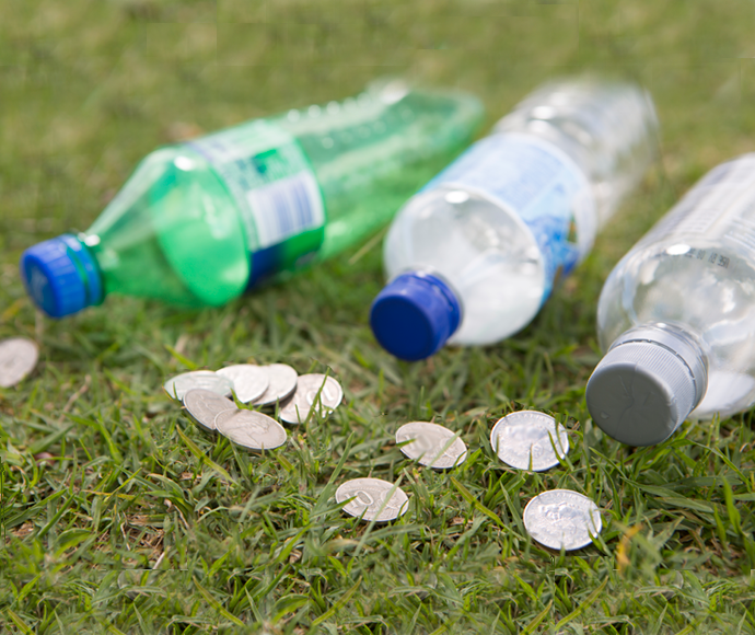
[[[402,452],[421,465],[435,470],[448,470],[461,465],[466,460],[466,446],[455,434],[428,422],[411,422],[396,430],[396,443],[411,441],[402,446]],[[453,441],[452,441],[453,439]]]

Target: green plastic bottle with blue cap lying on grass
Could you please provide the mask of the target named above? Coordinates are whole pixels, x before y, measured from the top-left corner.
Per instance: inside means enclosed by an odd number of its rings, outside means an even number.
[[[89,230],[26,250],[22,278],[54,318],[107,293],[221,305],[384,226],[481,115],[472,95],[382,81],[161,148]]]

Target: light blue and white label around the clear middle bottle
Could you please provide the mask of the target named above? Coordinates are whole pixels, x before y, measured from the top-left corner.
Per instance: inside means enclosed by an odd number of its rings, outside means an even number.
[[[523,221],[545,266],[543,301],[592,247],[597,216],[590,183],[571,158],[537,137],[486,137],[425,189],[441,184],[477,192]]]

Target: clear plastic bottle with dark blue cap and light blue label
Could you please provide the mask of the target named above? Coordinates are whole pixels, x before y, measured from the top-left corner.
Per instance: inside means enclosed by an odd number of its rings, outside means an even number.
[[[527,96],[394,219],[378,342],[418,360],[526,326],[641,177],[655,128],[632,84],[582,77]]]

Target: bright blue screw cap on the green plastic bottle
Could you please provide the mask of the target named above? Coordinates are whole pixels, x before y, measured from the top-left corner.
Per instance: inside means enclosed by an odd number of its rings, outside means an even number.
[[[20,268],[26,292],[50,318],[63,318],[102,301],[96,264],[71,234],[27,249],[21,256]]]

